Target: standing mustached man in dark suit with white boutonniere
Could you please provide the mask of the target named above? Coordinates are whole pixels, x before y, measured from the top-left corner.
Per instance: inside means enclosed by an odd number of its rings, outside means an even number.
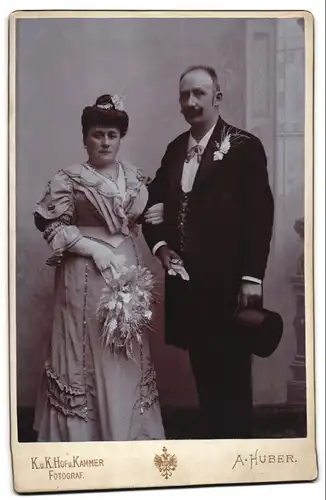
[[[164,222],[143,232],[166,270],[166,342],[189,352],[202,437],[246,438],[251,352],[232,318],[262,300],[274,211],[266,156],[257,137],[219,116],[213,68],[187,69],[179,92],[190,131],[168,145],[149,186],[149,206],[164,204]]]

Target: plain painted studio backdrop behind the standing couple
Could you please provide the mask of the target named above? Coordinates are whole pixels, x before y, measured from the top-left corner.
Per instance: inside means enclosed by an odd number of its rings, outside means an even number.
[[[124,93],[130,128],[121,156],[153,176],[167,144],[186,130],[178,80],[190,64],[216,68],[221,116],[263,142],[275,198],[265,306],[284,320],[268,359],[254,360],[258,408],[305,402],[303,233],[304,28],[276,19],[23,19],[17,29],[18,408],[33,409],[51,328],[50,249],[33,207],[53,173],[85,159],[82,109]],[[161,282],[160,266],[145,247]],[[162,284],[160,285],[163,291]],[[164,408],[197,405],[187,354],[164,344],[163,294],[151,344]]]

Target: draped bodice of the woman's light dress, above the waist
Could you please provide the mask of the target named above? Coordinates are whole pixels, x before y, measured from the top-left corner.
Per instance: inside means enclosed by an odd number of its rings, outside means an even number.
[[[48,183],[34,214],[44,226],[46,221],[64,217],[77,227],[104,226],[110,234],[127,236],[146,207],[148,192],[136,167],[123,162],[120,175],[124,176],[124,189],[121,182],[98,175],[87,164],[60,170]]]

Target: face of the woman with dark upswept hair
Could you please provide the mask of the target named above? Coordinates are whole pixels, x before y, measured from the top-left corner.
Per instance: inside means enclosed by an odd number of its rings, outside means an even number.
[[[117,127],[91,127],[85,139],[90,163],[98,168],[114,163],[120,141],[120,130]]]

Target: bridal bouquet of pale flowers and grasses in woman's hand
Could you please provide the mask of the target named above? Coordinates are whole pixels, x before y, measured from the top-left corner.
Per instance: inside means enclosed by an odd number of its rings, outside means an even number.
[[[152,318],[154,278],[145,267],[131,266],[114,276],[102,290],[97,307],[101,337],[112,352],[132,358],[132,341],[142,344],[143,328]]]

